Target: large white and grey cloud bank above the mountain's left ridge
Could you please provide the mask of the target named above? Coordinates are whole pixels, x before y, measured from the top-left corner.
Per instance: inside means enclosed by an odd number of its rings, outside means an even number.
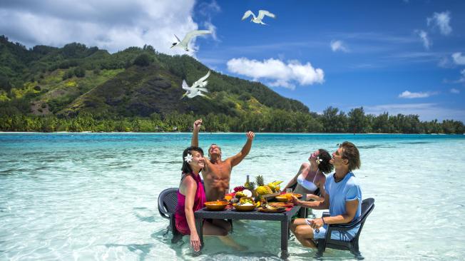
[[[111,52],[150,44],[164,53],[185,53],[170,46],[173,34],[183,37],[199,29],[193,21],[194,4],[195,0],[2,1],[0,31],[29,47],[77,41]],[[195,39],[191,46],[198,48]]]

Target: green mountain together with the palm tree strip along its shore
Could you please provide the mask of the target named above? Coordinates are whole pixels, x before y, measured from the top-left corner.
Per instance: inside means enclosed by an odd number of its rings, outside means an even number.
[[[205,131],[465,133],[464,123],[365,115],[328,107],[322,115],[262,83],[212,71],[208,97],[183,98],[208,72],[190,56],[152,46],[108,53],[83,44],[26,48],[0,36],[0,131]]]

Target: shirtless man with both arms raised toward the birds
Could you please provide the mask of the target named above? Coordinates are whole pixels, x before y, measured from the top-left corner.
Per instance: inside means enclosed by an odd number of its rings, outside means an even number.
[[[190,145],[198,147],[198,132],[202,126],[202,119],[195,121],[194,132]],[[247,154],[249,154],[250,147],[252,147],[252,140],[255,133],[249,131],[247,135],[247,142],[242,150],[233,157],[221,160],[221,148],[216,145],[210,145],[208,149],[208,156],[210,159],[205,158],[205,167],[202,170],[202,177],[205,183],[205,195],[208,201],[221,200],[225,198],[225,193],[229,188],[229,181],[231,178],[231,170],[239,164]]]

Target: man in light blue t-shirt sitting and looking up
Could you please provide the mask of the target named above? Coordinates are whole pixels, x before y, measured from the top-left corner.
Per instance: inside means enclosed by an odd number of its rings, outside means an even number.
[[[291,231],[302,245],[316,247],[314,240],[325,238],[327,224],[343,224],[359,218],[362,210],[362,190],[352,170],[360,168],[359,150],[353,143],[344,141],[332,153],[329,163],[334,165],[335,173],[329,175],[325,182],[323,201],[300,201],[292,197],[295,205],[315,210],[329,209],[329,217],[297,218],[292,222]],[[357,235],[359,226],[352,230],[331,233],[332,239],[350,241]]]

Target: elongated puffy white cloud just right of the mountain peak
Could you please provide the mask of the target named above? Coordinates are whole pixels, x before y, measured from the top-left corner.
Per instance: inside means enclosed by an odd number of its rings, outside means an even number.
[[[321,68],[313,68],[311,63],[302,64],[295,60],[284,63],[274,58],[257,61],[242,57],[230,59],[227,65],[233,73],[251,77],[254,81],[264,78],[270,81],[270,86],[293,89],[295,83],[306,86],[325,81],[325,73]]]

